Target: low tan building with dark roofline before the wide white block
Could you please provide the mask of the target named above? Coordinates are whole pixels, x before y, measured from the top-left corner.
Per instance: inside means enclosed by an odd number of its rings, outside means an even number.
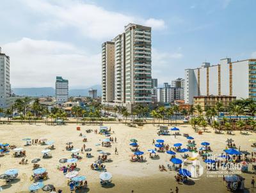
[[[227,109],[231,102],[236,100],[236,96],[194,96],[194,105],[200,105],[202,110],[205,111],[205,107],[216,107],[216,104],[220,102],[223,104],[223,108]]]

